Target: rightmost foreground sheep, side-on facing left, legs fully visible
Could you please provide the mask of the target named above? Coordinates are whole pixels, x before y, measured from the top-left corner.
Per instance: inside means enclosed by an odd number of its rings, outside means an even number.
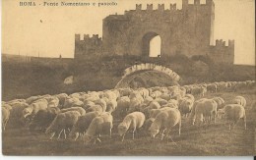
[[[244,129],[246,130],[246,115],[244,107],[240,104],[227,104],[224,106],[224,109],[221,109],[219,113],[224,114],[226,120],[229,124],[229,130],[231,130],[231,125],[234,126],[240,119],[243,119]]]

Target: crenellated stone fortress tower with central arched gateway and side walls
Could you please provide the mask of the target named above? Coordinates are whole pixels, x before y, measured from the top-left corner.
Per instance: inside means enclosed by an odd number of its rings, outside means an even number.
[[[153,9],[148,4],[142,10],[142,4],[137,4],[135,10],[125,11],[124,15],[109,15],[103,19],[102,40],[91,43],[84,40],[75,41],[75,58],[78,55],[94,53],[110,55],[149,56],[150,41],[160,35],[160,56],[175,54],[209,55],[218,61],[233,63],[234,42],[228,46],[223,41],[217,41],[214,46],[215,3],[206,0],[182,0],[182,9],[176,9],[176,4],[164,6],[159,4]],[[222,44],[221,44],[222,43]],[[93,49],[92,49],[93,48]],[[218,57],[216,57],[218,56]]]

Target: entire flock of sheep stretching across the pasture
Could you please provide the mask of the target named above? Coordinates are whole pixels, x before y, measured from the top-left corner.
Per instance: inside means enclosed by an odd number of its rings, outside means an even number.
[[[170,137],[170,131],[178,126],[181,132],[181,116],[192,125],[215,123],[225,118],[229,130],[243,119],[246,99],[233,97],[230,104],[222,97],[204,98],[206,92],[235,91],[252,87],[255,80],[174,85],[151,88],[118,88],[104,91],[76,92],[56,95],[37,95],[27,99],[2,101],[3,130],[12,127],[28,127],[41,130],[52,139],[81,137],[85,143],[101,141],[101,135],[112,135],[113,121],[118,122],[117,132],[122,141],[126,133],[138,129],[161,139]],[[195,97],[198,99],[196,100]],[[61,136],[62,135],[62,136]],[[172,138],[171,138],[172,139]],[[173,141],[173,140],[172,140]]]

